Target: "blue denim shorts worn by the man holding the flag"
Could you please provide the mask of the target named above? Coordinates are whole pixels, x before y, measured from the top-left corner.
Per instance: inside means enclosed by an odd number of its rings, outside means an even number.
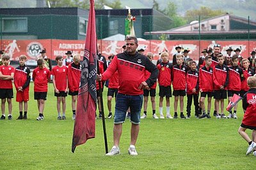
[[[143,103],[143,95],[130,96],[118,93],[116,96],[114,124],[123,124],[126,111],[130,107],[132,124],[140,124],[140,111]]]

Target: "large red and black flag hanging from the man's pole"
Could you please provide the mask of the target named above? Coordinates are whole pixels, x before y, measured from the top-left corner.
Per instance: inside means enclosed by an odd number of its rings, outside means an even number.
[[[72,140],[73,153],[77,145],[86,143],[87,139],[95,138],[95,111],[97,100],[97,36],[95,26],[94,0],[90,0],[90,13]]]

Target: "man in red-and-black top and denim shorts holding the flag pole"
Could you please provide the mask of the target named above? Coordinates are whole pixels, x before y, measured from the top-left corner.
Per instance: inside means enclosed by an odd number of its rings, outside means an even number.
[[[114,146],[106,155],[120,154],[119,143],[122,135],[122,124],[125,121],[127,109],[131,109],[131,143],[128,149],[130,155],[138,155],[135,149],[140,131],[140,112],[143,103],[143,89],[150,90],[158,76],[157,67],[145,56],[136,51],[138,39],[134,36],[125,39],[127,50],[118,53],[103,74],[97,74],[97,80],[108,80],[118,71],[118,94],[116,96],[115,120],[113,129]],[[151,73],[143,81],[145,71]]]

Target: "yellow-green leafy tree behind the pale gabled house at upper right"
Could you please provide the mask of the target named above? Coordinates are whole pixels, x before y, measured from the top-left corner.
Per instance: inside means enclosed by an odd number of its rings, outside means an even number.
[[[188,10],[184,18],[189,22],[193,20],[198,20],[200,15],[201,20],[205,20],[207,18],[216,17],[218,15],[223,15],[226,12],[223,10],[211,10],[211,8],[206,6],[201,6],[199,10]]]

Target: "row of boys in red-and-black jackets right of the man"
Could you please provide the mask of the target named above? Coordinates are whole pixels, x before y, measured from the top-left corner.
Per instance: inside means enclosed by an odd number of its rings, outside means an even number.
[[[220,47],[220,46],[216,46]],[[216,50],[216,49],[215,49]],[[150,53],[147,54],[150,58]],[[184,55],[176,55],[176,65],[172,65],[168,62],[168,53],[161,53],[161,62],[157,64],[159,69],[159,113],[160,118],[164,118],[163,115],[163,97],[166,97],[166,118],[173,118],[170,115],[170,97],[175,96],[174,100],[174,118],[178,117],[177,105],[180,101],[180,118],[190,118],[191,117],[191,103],[194,99],[195,105],[195,117],[197,118],[211,118],[211,98],[214,97],[214,117],[216,118],[227,118],[224,114],[224,99],[228,101],[237,94],[243,96],[245,92],[248,91],[248,86],[246,84],[246,79],[254,74],[254,71],[249,68],[250,62],[248,59],[243,59],[241,61],[241,66],[239,67],[239,57],[233,55],[231,57],[231,66],[226,66],[224,64],[225,57],[218,53],[214,64],[212,58],[213,55],[207,55],[204,58],[204,64],[197,71],[196,62],[190,61],[188,67],[184,64]],[[171,84],[173,86],[173,94],[171,91]],[[150,89],[151,97],[156,96],[156,88]],[[201,93],[199,104],[198,96]],[[148,92],[146,91],[146,97]],[[187,117],[185,117],[184,108],[184,96],[188,96],[187,100]],[[207,110],[205,108],[205,97],[207,96]],[[145,100],[146,107],[144,107],[144,113],[141,118],[147,117],[147,99]],[[156,108],[153,108],[153,117],[156,116]],[[202,110],[202,112],[201,112]],[[228,118],[237,118],[236,115],[237,106],[234,107],[234,114],[230,111]],[[202,113],[202,115],[201,115]]]

